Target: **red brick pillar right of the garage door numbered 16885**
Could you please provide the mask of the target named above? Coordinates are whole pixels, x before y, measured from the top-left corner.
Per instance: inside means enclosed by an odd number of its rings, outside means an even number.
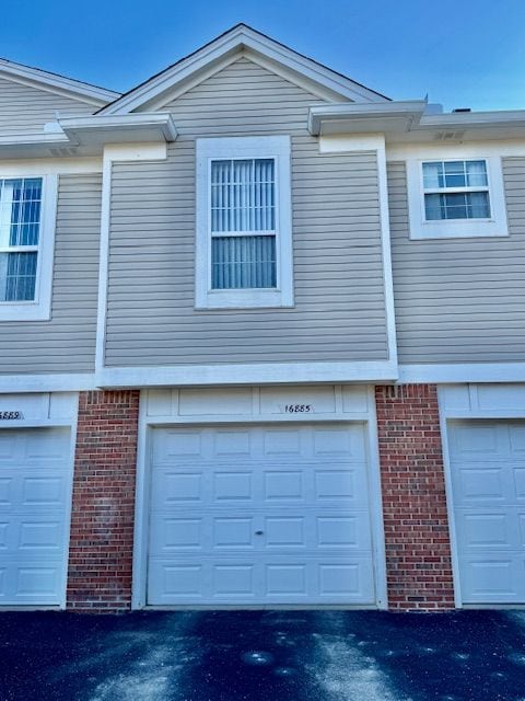
[[[388,606],[454,607],[436,387],[376,387]]]

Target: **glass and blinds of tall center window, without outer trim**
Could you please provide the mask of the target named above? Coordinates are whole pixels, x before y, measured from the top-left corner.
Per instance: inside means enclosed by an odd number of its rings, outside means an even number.
[[[214,160],[210,177],[212,289],[275,288],[275,160]]]

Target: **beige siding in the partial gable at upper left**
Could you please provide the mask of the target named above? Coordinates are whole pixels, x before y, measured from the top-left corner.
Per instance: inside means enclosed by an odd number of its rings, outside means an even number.
[[[0,78],[0,136],[42,134],[57,112],[62,117],[93,114],[96,106]]]

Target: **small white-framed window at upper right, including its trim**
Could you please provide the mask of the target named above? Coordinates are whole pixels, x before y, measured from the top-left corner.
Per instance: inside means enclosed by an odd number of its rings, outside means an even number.
[[[407,163],[412,239],[506,235],[501,160]]]

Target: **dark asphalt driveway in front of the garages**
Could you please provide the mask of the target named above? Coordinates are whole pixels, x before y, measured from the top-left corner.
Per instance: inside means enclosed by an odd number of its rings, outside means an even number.
[[[1,701],[525,701],[525,612],[0,614]]]

